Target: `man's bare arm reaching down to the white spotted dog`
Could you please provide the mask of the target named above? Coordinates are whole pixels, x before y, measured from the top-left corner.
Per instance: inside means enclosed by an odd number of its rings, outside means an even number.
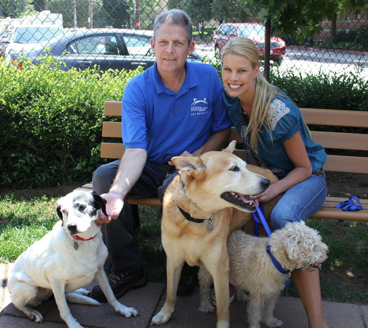
[[[146,159],[147,153],[145,149],[129,148],[125,150],[109,193],[102,195],[107,201],[106,212],[109,217],[101,214],[96,220],[98,225],[104,222],[109,223],[111,219],[117,219],[123,209],[125,196],[141,176]]]

